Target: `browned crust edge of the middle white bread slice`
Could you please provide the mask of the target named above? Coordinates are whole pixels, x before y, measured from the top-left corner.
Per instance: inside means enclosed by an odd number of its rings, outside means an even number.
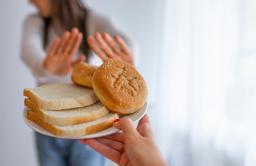
[[[68,126],[68,125],[86,123],[86,122],[90,122],[90,121],[94,121],[99,118],[102,118],[109,113],[107,108],[102,105],[102,107],[100,107],[99,109],[92,110],[91,112],[87,112],[84,114],[74,114],[72,116],[65,116],[65,117],[54,116],[54,115],[45,113],[45,111],[42,108],[37,107],[37,105],[29,99],[25,99],[24,103],[25,103],[25,106],[33,110],[42,121],[48,124],[57,125],[57,126]],[[74,109],[68,109],[68,111],[73,111],[73,110]],[[57,111],[62,111],[62,110],[57,110]]]

